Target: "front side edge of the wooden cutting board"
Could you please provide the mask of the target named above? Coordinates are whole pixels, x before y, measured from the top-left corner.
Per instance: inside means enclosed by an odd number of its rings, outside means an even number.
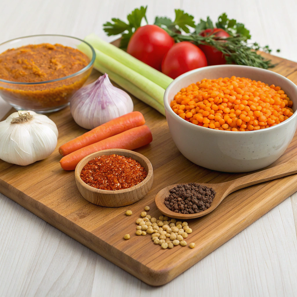
[[[287,176],[282,179],[291,179],[287,187],[290,188],[290,192],[282,197],[281,200],[277,199],[276,197],[279,196],[279,193],[276,193],[275,198],[271,197],[268,200],[268,203],[263,204],[261,208],[261,212],[252,212],[249,217],[245,217],[240,222],[240,228],[238,225],[233,225],[231,228],[228,228],[229,232],[222,233],[222,236],[218,239],[214,240],[209,248],[204,249],[203,251],[197,252],[196,255],[189,257],[187,261],[181,261],[178,265],[174,266],[173,268],[163,268],[159,270],[155,270],[152,268],[143,265],[142,263],[138,262],[137,260],[133,259],[132,257],[126,255],[124,252],[116,249],[112,245],[106,243],[99,237],[95,236],[89,231],[84,230],[82,227],[76,225],[66,217],[63,217],[61,214],[56,213],[54,210],[45,206],[43,203],[34,200],[33,198],[29,197],[28,195],[24,194],[23,192],[19,191],[18,189],[12,187],[10,184],[6,183],[5,181],[0,179],[0,192],[6,195],[8,198],[12,199],[16,203],[20,204],[27,210],[31,211],[41,219],[48,222],[53,227],[61,230],[68,236],[74,238],[81,244],[85,245],[89,249],[93,250],[97,254],[101,255],[105,259],[109,260],[116,266],[124,269],[128,273],[132,274],[136,278],[142,280],[148,285],[151,286],[160,286],[165,285],[175,277],[192,267],[194,264],[202,260],[208,254],[213,252],[215,249],[220,247],[222,244],[233,238],[236,234],[240,233],[242,230],[247,228],[257,219],[262,217],[272,208],[277,206],[279,203],[284,201],[290,195],[297,191],[297,183],[295,178],[292,176]],[[26,203],[25,203],[26,202]],[[46,214],[48,212],[49,214]],[[257,214],[257,215],[255,215]],[[68,226],[68,227],[66,227]],[[231,232],[230,232],[231,231]],[[78,236],[80,235],[80,237]],[[131,265],[133,264],[133,265]],[[133,266],[133,269],[130,268]]]

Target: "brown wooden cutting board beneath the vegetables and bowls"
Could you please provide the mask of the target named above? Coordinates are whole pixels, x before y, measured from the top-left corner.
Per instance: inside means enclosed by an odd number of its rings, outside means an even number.
[[[266,56],[279,63],[273,71],[297,83],[297,63]],[[89,82],[99,75],[94,70]],[[187,160],[173,143],[165,117],[132,98],[134,110],[143,113],[153,134],[151,144],[136,150],[151,161],[154,169],[153,187],[142,200],[131,206],[105,208],[89,203],[80,195],[74,171],[64,171],[59,164],[59,146],[86,132],[74,122],[69,107],[49,115],[59,129],[58,145],[50,157],[25,167],[0,160],[0,192],[135,277],[157,286],[181,274],[296,192],[297,176],[279,178],[232,193],[210,214],[188,221],[193,232],[187,243],[195,242],[194,249],[188,245],[161,249],[153,244],[149,234],[135,235],[135,221],[144,206],[150,206],[148,214],[152,217],[161,215],[154,203],[159,190],[170,184],[217,183],[245,174],[212,171]],[[297,155],[296,145],[295,134],[285,154],[273,165]],[[132,210],[131,217],[125,215],[127,209]],[[126,233],[131,236],[128,241],[123,239]]]

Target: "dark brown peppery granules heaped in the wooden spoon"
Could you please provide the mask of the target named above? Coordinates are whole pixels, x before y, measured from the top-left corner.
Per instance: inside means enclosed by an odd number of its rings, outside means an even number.
[[[198,183],[180,184],[169,190],[164,204],[179,214],[194,214],[210,207],[216,191]]]

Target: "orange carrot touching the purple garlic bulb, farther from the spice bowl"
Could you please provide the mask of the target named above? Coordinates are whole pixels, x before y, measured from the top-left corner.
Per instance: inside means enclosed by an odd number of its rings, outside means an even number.
[[[90,144],[110,136],[119,134],[134,127],[141,126],[145,123],[145,119],[139,111],[132,111],[116,119],[106,122],[83,135],[74,138],[59,147],[59,153],[66,156],[78,149],[81,149]]]

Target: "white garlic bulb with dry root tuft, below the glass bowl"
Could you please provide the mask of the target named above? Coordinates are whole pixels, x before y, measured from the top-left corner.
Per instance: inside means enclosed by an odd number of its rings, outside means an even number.
[[[45,159],[57,141],[56,124],[34,111],[20,110],[0,122],[0,159],[8,163],[28,165]]]

